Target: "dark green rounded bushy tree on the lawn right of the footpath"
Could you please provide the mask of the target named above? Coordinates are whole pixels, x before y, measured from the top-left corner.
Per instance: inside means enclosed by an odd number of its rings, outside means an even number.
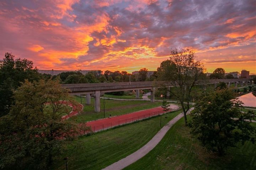
[[[204,94],[191,112],[191,134],[219,155],[223,155],[228,147],[236,147],[238,142],[254,142],[256,129],[246,119],[254,119],[255,114],[241,113],[241,104],[230,89]]]

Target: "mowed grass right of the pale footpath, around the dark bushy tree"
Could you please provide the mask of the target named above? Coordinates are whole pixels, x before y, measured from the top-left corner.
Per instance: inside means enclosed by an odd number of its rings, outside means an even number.
[[[252,123],[256,126],[256,123]],[[125,170],[255,170],[256,144],[246,142],[238,148],[229,148],[225,156],[209,153],[180,119],[160,143],[147,155]]]

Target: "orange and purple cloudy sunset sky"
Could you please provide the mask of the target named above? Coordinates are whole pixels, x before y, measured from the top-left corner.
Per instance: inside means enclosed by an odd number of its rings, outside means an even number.
[[[256,0],[1,0],[0,55],[39,69],[156,70],[175,48],[256,73]]]

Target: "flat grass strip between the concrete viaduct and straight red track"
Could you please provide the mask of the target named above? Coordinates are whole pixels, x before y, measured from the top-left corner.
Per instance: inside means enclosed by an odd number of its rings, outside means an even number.
[[[80,97],[75,97],[75,100],[79,103],[81,102]],[[91,104],[89,105],[85,104],[85,102],[86,98],[82,97],[82,104],[84,105],[84,110],[75,118],[78,123],[104,118],[103,99],[100,99],[101,108],[100,112],[98,113],[94,112],[94,98],[91,98]],[[105,117],[109,117],[110,114],[111,116],[116,116],[159,107],[161,106],[161,104],[161,102],[150,101],[118,101],[105,99]]]

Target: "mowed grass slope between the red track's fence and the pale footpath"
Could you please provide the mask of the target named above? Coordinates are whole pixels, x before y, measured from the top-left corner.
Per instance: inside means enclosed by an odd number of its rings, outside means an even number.
[[[162,126],[181,111],[162,116]],[[165,118],[167,117],[167,118]],[[53,169],[65,169],[63,158],[68,157],[68,169],[98,170],[126,157],[144,146],[160,130],[160,117],[98,132],[71,141],[64,154],[55,160]]]

